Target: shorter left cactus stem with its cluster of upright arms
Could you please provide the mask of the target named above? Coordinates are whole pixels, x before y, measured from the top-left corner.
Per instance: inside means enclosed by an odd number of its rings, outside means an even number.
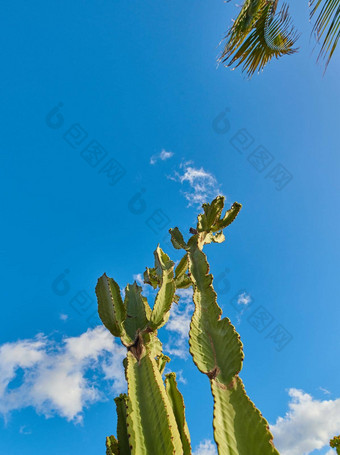
[[[128,393],[115,399],[118,439],[106,439],[106,453],[190,455],[183,398],[174,373],[163,381],[162,373],[170,359],[162,354],[157,337],[157,329],[169,318],[176,300],[176,281],[183,273],[178,271],[175,277],[174,263],[158,247],[155,267],[147,269],[147,275],[152,278],[153,287],[158,288],[152,309],[136,283],[126,286],[124,301],[118,284],[107,275],[98,280],[96,287],[103,324],[127,348],[123,364]]]

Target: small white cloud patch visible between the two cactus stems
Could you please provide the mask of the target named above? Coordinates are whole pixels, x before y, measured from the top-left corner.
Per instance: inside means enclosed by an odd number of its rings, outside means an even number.
[[[178,289],[179,304],[172,305],[166,330],[175,335],[169,336],[169,341],[164,349],[171,355],[186,359],[189,355],[188,335],[191,315],[194,310],[192,302],[192,289]]]

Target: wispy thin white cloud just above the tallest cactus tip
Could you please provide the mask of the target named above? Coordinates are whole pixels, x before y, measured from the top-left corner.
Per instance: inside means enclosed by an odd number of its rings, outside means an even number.
[[[181,172],[175,172],[174,176],[169,177],[184,185],[189,185],[189,189],[184,191],[184,196],[188,201],[188,206],[197,205],[199,208],[204,202],[210,202],[221,193],[220,185],[216,178],[203,167],[195,168],[191,161],[180,165]]]

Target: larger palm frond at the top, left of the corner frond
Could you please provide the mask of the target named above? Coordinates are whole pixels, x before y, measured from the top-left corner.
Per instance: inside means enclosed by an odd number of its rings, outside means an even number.
[[[273,58],[293,54],[298,34],[283,5],[276,13],[278,0],[246,0],[229,30],[220,61],[226,66],[247,71],[249,77],[261,71]]]

